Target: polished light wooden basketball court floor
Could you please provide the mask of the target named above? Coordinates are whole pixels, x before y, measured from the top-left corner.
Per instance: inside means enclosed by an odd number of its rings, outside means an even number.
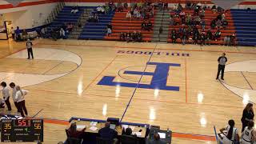
[[[227,65],[249,61],[247,67],[256,67],[254,47],[38,39],[34,41],[34,60],[27,60],[25,42],[0,41],[0,79],[30,91],[26,96],[29,116],[46,119],[46,144],[66,139],[64,129],[71,117],[149,123],[170,128],[174,144],[209,144],[215,143],[214,126],[218,130],[230,118],[240,132],[243,107],[256,97],[246,93],[256,89],[254,71],[230,70],[224,82],[215,80],[222,52],[226,52]],[[167,75],[159,66],[161,73],[152,80],[150,74],[157,66],[147,62],[178,66],[170,66]],[[15,74],[23,74],[22,79]],[[38,80],[37,75],[54,78]],[[106,76],[114,77],[113,82],[104,79]],[[178,90],[163,90],[164,80],[166,86]],[[153,81],[161,86],[139,87]],[[232,86],[244,90],[244,96]]]

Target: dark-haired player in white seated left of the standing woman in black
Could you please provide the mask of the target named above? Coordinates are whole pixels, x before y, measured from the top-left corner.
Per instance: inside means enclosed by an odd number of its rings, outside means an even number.
[[[227,134],[224,133],[227,131]],[[230,143],[239,143],[239,135],[238,129],[234,127],[234,120],[230,119],[228,122],[228,126],[223,127],[220,129],[220,134],[218,134],[218,143],[222,142],[223,144],[230,144]]]

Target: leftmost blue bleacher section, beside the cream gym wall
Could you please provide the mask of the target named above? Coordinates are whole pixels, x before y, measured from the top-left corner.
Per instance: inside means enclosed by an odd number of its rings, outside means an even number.
[[[63,9],[58,13],[58,16],[54,19],[53,22],[50,23],[50,26],[47,27],[47,30],[50,31],[55,28],[59,28],[63,26],[64,23],[76,23],[78,22],[78,18],[80,18],[82,14],[83,7],[79,7],[79,11],[77,14],[71,14],[72,6],[64,6]],[[66,34],[67,37],[68,34]]]

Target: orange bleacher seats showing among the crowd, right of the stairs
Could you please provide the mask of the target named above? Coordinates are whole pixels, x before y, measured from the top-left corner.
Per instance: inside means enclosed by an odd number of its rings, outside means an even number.
[[[191,14],[193,15],[194,14],[194,10],[182,10],[185,12],[185,14]],[[171,12],[170,14],[174,14],[174,12]],[[212,22],[214,20],[214,18],[216,18],[218,16],[218,13],[217,14],[214,14],[212,12],[212,10],[205,10],[205,22],[206,22],[206,28],[205,28],[205,31],[209,30],[210,29],[210,22]],[[218,40],[218,41],[211,41],[211,44],[223,44],[223,39],[226,35],[232,35],[232,34],[235,34],[235,27],[234,27],[234,22],[233,22],[233,18],[232,18],[232,15],[230,14],[230,11],[227,11],[226,12],[226,20],[228,22],[228,26],[226,27],[226,30],[223,30],[221,29],[221,40]],[[181,23],[181,18],[175,18],[175,22],[180,22]],[[177,26],[169,26],[169,32],[171,33],[171,30],[175,29],[176,31],[179,30],[180,27],[183,27],[182,25],[177,25]],[[185,26],[187,27],[187,26]],[[197,26],[198,27],[198,30],[201,30],[202,31],[202,26]],[[214,34],[217,29],[210,29],[210,31]],[[169,33],[169,38],[168,38],[168,42],[171,42],[171,38],[170,38],[170,33]],[[190,37],[191,38],[191,37]],[[177,42],[181,43],[182,40],[181,39],[177,39]],[[186,43],[189,43],[189,42],[186,42]]]

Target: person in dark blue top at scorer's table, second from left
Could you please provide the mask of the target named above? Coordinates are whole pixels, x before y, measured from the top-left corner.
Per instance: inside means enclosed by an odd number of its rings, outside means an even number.
[[[118,132],[116,130],[110,129],[110,122],[106,122],[105,127],[98,130],[98,134],[100,138],[110,139],[113,143],[118,142]]]

